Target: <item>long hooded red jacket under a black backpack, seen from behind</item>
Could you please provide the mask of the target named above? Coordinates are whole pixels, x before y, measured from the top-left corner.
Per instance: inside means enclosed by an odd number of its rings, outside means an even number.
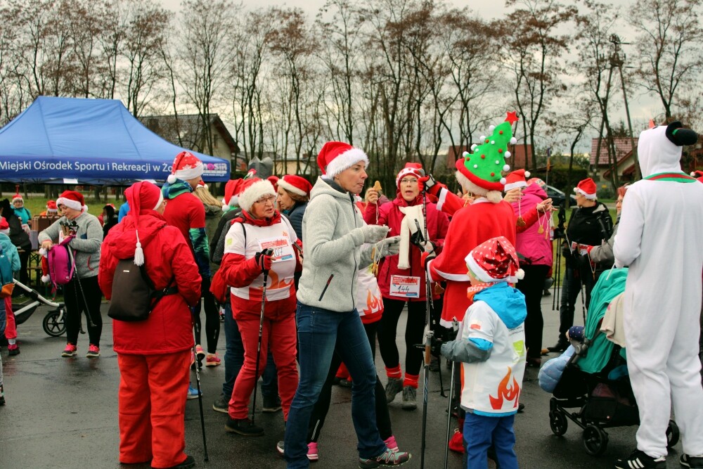
[[[200,301],[200,274],[191,248],[174,226],[153,210],[142,210],[138,221],[139,240],[144,250],[146,272],[155,288],[166,288],[172,278],[176,295],[167,295],[156,304],[146,321],[112,321],[115,352],[122,354],[168,354],[193,346],[191,309]],[[119,259],[134,257],[136,246],[134,216],[131,212],[115,225],[103,240],[98,283],[105,297],[112,296],[112,276]]]

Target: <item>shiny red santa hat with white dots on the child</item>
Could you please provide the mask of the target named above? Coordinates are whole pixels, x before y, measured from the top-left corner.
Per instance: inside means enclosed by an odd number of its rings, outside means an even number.
[[[464,260],[471,273],[485,283],[515,283],[524,278],[515,246],[505,236],[491,238],[477,245]]]

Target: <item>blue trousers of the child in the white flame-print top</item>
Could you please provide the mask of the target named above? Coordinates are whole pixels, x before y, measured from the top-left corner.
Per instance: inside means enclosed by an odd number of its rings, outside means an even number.
[[[488,450],[496,449],[496,462],[501,469],[517,469],[515,414],[502,417],[477,416],[467,412],[464,420],[467,468],[487,468]]]

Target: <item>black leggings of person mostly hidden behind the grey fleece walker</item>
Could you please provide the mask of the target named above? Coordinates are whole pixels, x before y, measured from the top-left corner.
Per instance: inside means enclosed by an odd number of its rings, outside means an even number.
[[[366,330],[366,337],[368,337],[368,343],[371,346],[371,356],[376,356],[376,326],[378,322],[364,324],[363,329]],[[330,364],[330,372],[327,375],[327,380],[322,386],[320,391],[320,396],[317,398],[317,403],[312,410],[310,415],[310,424],[308,425],[308,442],[317,442],[320,437],[320,432],[323,425],[325,425],[325,417],[330,410],[330,401],[332,400],[332,385],[335,382],[335,375],[337,374],[337,368],[342,364],[342,359],[339,354],[335,352],[332,356],[332,363]],[[391,417],[388,413],[388,403],[386,402],[386,393],[383,390],[383,385],[376,375],[376,387],[374,390],[375,402],[376,402],[376,426],[378,427],[378,433],[381,439],[388,439],[392,437],[393,430],[391,428]]]

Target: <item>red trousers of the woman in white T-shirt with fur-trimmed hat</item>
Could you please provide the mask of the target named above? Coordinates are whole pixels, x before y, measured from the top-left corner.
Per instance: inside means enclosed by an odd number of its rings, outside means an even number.
[[[259,341],[259,317],[252,314],[237,318],[237,326],[244,345],[244,365],[237,376],[229,401],[229,416],[235,419],[247,418],[249,400],[254,390],[254,373],[257,366],[257,343]],[[298,387],[298,370],[295,364],[295,315],[279,314],[276,319],[264,316],[262,330],[261,361],[259,376],[266,368],[266,354],[269,346],[278,373],[278,395],[283,407],[283,420],[288,420],[290,403]],[[257,376],[257,380],[259,379]]]

